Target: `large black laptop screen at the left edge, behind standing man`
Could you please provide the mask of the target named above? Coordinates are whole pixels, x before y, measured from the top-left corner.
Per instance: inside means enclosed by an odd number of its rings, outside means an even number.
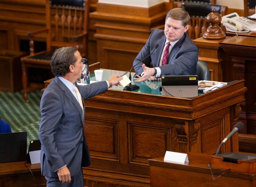
[[[27,132],[0,134],[0,162],[26,161]]]

